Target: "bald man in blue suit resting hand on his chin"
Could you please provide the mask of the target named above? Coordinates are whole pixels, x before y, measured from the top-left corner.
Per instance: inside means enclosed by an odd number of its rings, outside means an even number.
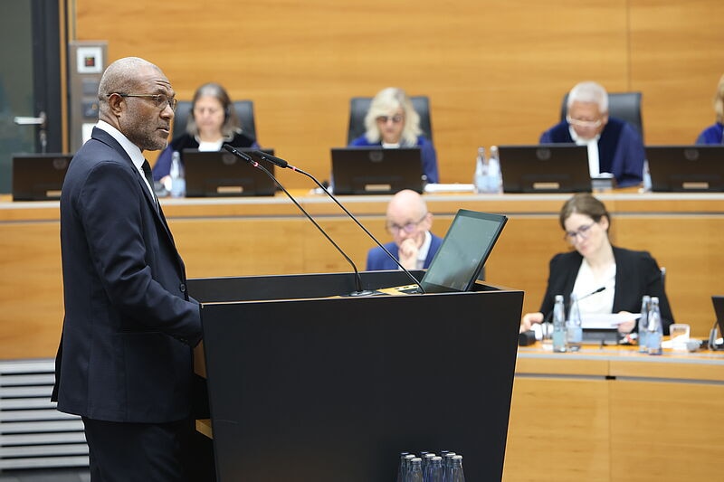
[[[387,204],[387,232],[394,241],[385,244],[405,269],[423,269],[430,266],[443,239],[435,236],[433,214],[428,213],[423,196],[409,189],[395,194]],[[394,260],[379,246],[367,253],[367,271],[399,269]]]

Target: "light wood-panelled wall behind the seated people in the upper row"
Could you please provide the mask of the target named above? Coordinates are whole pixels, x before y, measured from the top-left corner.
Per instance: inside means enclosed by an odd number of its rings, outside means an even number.
[[[75,40],[157,63],[179,99],[218,81],[252,99],[262,146],[320,179],[346,144],[348,101],[428,95],[442,182],[469,183],[477,146],[537,143],[580,80],[643,92],[649,144],[711,124],[724,72],[720,0],[71,0]],[[153,156],[151,156],[153,157]],[[287,187],[309,181],[285,172]]]

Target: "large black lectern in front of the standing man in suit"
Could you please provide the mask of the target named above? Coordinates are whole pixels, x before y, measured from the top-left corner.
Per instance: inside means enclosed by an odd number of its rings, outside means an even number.
[[[401,451],[452,450],[469,480],[500,480],[523,292],[477,288],[352,298],[338,297],[350,273],[189,280],[217,479],[392,481]]]

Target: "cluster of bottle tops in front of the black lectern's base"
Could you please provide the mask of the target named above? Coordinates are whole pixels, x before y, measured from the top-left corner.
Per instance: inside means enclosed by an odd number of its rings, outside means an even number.
[[[420,452],[400,454],[397,482],[465,482],[462,455],[443,450],[440,455]]]

